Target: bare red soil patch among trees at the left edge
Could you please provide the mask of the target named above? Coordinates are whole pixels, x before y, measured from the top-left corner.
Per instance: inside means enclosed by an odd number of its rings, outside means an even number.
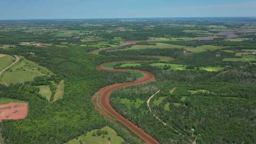
[[[3,119],[24,119],[28,113],[27,103],[9,103],[0,105],[0,121]]]

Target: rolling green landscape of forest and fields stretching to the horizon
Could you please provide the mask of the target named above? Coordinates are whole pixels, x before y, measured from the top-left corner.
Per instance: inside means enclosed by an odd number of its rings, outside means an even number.
[[[0,22],[2,144],[256,144],[254,18]]]

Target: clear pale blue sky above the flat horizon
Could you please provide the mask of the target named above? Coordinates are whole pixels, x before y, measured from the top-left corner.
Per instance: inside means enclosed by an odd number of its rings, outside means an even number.
[[[256,0],[1,0],[0,19],[256,17]]]

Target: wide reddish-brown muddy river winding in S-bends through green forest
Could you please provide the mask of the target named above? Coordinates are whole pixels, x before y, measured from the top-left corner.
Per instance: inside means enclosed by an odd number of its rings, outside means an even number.
[[[117,62],[115,62],[117,63]],[[106,64],[106,63],[105,63]],[[101,64],[98,66],[98,69],[104,70],[104,71],[115,71],[115,72],[121,72],[121,71],[130,71],[131,69],[113,69],[113,68],[104,68],[103,65]],[[144,73],[144,77],[133,82],[128,82],[128,83],[116,83],[107,87],[102,88],[99,90],[98,96],[96,99],[99,99],[100,106],[95,106],[99,110],[101,114],[106,116],[109,114],[110,116],[114,117],[117,119],[119,122],[124,124],[128,129],[130,129],[133,133],[138,135],[141,139],[143,139],[146,144],[159,144],[158,141],[156,141],[154,138],[152,138],[150,135],[148,135],[146,132],[144,132],[141,128],[130,122],[128,119],[125,117],[121,116],[114,108],[111,107],[110,105],[110,95],[113,90],[116,90],[118,88],[123,88],[127,86],[134,86],[142,83],[146,83],[149,81],[155,81],[155,75],[153,75],[150,72],[146,71],[141,71],[141,70],[132,70],[132,71],[137,71],[137,72],[142,72]],[[93,99],[93,102],[97,101],[96,99]],[[107,114],[106,114],[107,113]]]

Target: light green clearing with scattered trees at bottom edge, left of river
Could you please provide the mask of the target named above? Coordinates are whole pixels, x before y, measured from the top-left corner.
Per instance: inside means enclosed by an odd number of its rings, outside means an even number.
[[[80,140],[83,144],[107,144],[108,142],[110,142],[110,144],[121,144],[124,142],[124,139],[118,136],[117,133],[109,126],[101,128],[101,131],[108,131],[108,134],[104,135],[104,137],[102,137],[103,134],[100,136],[92,136],[93,133],[96,134],[97,132],[97,130],[92,130],[86,135],[81,135],[78,137],[78,139],[73,139],[65,144],[81,144]]]

